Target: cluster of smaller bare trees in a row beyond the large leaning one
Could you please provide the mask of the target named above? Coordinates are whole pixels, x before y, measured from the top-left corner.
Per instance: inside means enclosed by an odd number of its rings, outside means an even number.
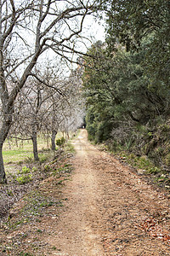
[[[51,148],[55,150],[59,130],[69,137],[69,131],[76,131],[82,124],[82,72],[77,68],[71,71],[69,78],[62,80],[58,74],[60,70],[48,65],[45,73],[37,72],[34,78],[27,79],[14,106],[14,122],[8,137],[31,140],[34,160],[38,160],[39,133],[51,136]]]

